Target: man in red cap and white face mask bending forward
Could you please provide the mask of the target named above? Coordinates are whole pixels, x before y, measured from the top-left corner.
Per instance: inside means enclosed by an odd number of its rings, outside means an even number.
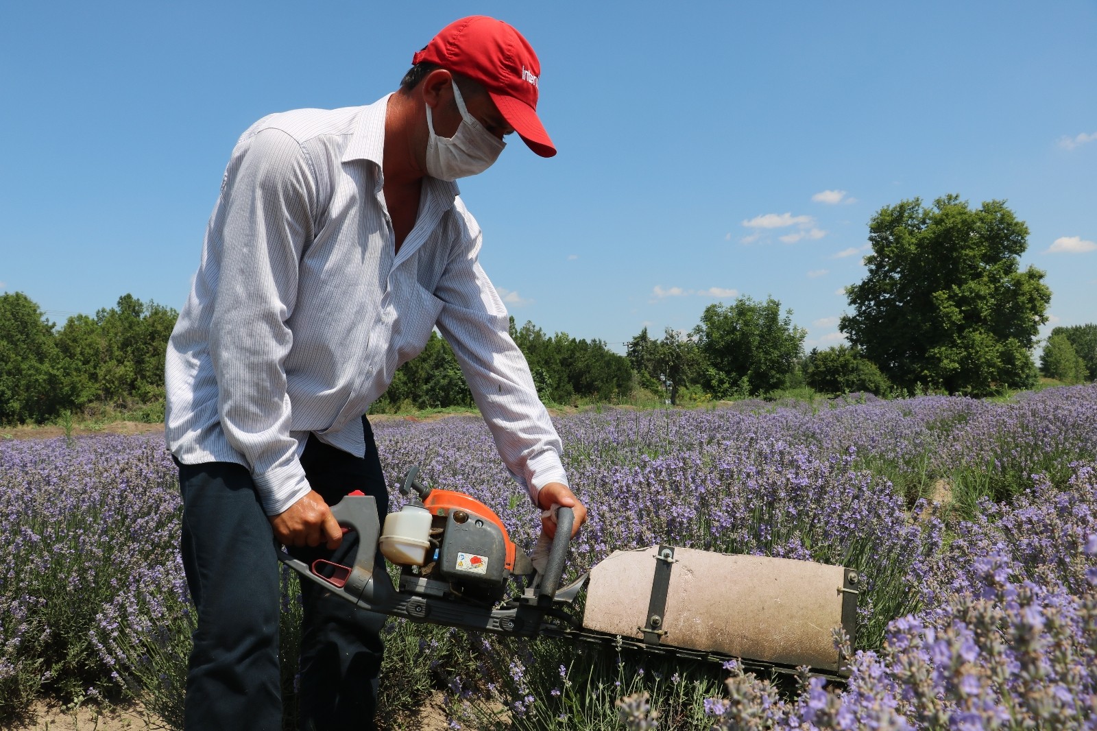
[[[450,24],[412,63],[369,106],[260,120],[225,171],[167,357],[199,614],[188,729],[281,728],[274,541],[347,563],[357,537],[328,506],[361,490],[387,511],[364,414],[436,325],[511,474],[543,515],[572,506],[576,529],[586,517],[452,182],[490,166],[511,132],[555,154],[540,64],[485,16]],[[373,728],[384,618],[310,586],[303,601],[301,728]]]

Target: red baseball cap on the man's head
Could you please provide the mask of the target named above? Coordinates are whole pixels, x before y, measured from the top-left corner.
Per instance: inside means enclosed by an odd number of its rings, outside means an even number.
[[[487,15],[453,21],[427,47],[411,57],[428,61],[484,85],[499,113],[525,145],[541,157],[556,147],[538,119],[538,78],[541,64],[522,34]]]

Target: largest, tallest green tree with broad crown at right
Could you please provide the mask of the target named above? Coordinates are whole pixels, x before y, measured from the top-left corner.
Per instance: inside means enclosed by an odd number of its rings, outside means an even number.
[[[1028,226],[1004,202],[902,201],[872,217],[869,243],[839,328],[893,383],[976,396],[1033,385],[1051,290],[1042,271],[1019,271]]]

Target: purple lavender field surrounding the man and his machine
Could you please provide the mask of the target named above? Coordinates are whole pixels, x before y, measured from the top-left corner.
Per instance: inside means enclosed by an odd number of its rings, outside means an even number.
[[[668,542],[812,559],[867,578],[846,687],[393,621],[381,717],[421,728],[1097,728],[1097,385],[606,409],[556,421],[590,508],[575,575]],[[474,417],[375,425],[393,509],[411,465],[539,525]],[[31,699],[139,698],[181,721],[193,618],[159,438],[0,442],[0,724]],[[283,671],[291,724],[295,578]],[[287,728],[291,728],[287,726]]]

